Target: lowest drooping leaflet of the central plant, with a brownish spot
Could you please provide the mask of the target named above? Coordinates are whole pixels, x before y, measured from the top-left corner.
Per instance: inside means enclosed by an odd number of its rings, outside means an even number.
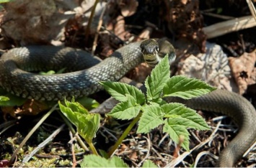
[[[167,118],[164,120],[164,132],[169,134],[169,137],[180,144],[185,150],[189,151],[189,133],[185,126],[180,126],[177,123],[177,118]]]

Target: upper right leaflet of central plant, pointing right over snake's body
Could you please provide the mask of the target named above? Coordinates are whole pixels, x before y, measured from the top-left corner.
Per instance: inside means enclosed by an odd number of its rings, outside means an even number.
[[[164,97],[177,96],[184,99],[195,98],[211,91],[216,88],[204,83],[195,78],[186,78],[184,76],[174,76],[167,81],[164,85]]]

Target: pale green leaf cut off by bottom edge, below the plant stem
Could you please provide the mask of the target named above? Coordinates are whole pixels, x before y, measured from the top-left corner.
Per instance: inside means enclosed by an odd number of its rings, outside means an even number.
[[[125,164],[117,156],[113,156],[111,159],[105,159],[94,154],[89,154],[84,156],[81,167],[128,167],[128,164]]]

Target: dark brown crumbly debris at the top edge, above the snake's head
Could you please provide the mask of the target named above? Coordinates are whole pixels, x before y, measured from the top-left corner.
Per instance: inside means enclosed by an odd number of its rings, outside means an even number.
[[[185,38],[198,45],[200,52],[206,52],[206,34],[204,34],[203,17],[200,14],[199,1],[172,1],[169,12],[169,31],[178,39]]]

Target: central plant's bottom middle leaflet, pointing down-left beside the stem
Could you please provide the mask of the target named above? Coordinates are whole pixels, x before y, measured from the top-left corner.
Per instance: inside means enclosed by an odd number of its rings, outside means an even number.
[[[164,113],[162,113],[160,106],[143,106],[142,111],[142,116],[138,121],[137,133],[149,133],[151,129],[155,129],[157,126],[164,123]]]

